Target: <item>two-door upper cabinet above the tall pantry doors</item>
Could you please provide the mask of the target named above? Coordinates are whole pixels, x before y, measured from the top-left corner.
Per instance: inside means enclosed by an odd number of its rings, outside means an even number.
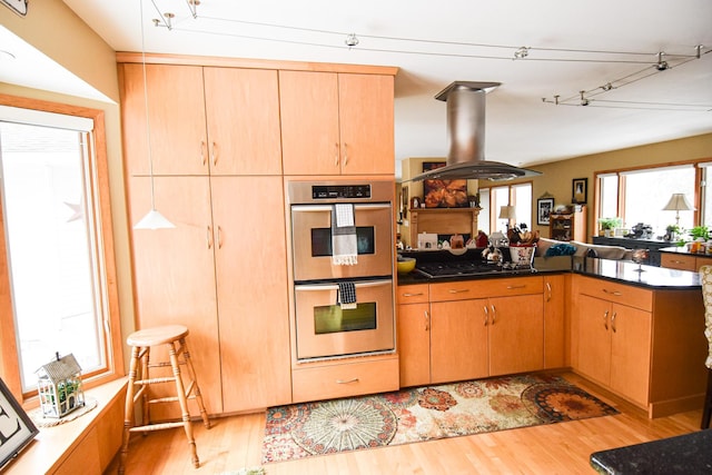
[[[140,63],[119,65],[128,170],[149,175]],[[155,175],[280,175],[276,70],[146,65]]]

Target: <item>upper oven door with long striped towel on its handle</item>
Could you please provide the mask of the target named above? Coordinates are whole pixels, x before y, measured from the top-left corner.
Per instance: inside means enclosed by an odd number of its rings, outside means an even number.
[[[332,264],[332,206],[291,206],[294,279],[336,279],[393,274],[393,217],[388,202],[354,205],[358,263]]]

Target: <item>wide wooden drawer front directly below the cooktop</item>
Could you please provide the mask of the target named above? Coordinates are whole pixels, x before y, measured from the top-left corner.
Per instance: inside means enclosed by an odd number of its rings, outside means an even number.
[[[465,300],[468,298],[508,297],[542,294],[542,277],[511,277],[486,280],[463,280],[431,284],[431,301]]]

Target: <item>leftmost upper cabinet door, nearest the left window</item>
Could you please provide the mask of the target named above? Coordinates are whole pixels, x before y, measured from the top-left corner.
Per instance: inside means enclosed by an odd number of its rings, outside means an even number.
[[[150,125],[154,175],[207,175],[207,133],[202,68],[146,65],[148,123],[144,66],[121,65],[123,151],[128,174],[149,174]]]

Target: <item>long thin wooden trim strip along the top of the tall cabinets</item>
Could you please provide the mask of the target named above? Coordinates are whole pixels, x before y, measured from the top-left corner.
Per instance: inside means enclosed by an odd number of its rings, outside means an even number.
[[[140,52],[117,51],[117,62],[144,62]],[[146,63],[216,66],[222,68],[279,69],[294,71],[352,72],[362,75],[396,76],[398,68],[394,66],[344,65],[336,62],[301,62],[270,59],[224,58],[216,56],[159,55],[146,53]]]

